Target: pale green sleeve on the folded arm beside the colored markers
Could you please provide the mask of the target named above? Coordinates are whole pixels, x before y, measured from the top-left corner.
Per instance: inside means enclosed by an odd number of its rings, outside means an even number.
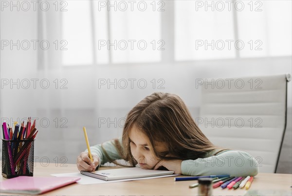
[[[256,176],[257,161],[247,152],[228,150],[216,156],[197,160],[183,160],[182,174],[187,176],[230,175]]]

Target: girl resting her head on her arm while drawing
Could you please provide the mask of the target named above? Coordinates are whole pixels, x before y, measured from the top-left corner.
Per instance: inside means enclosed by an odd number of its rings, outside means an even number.
[[[213,145],[192,119],[183,100],[174,94],[153,93],[128,113],[123,136],[91,146],[77,157],[79,171],[127,160],[132,167],[174,171],[175,174],[256,176],[256,160],[246,152]],[[239,160],[240,159],[240,160]],[[138,164],[138,165],[137,165]]]

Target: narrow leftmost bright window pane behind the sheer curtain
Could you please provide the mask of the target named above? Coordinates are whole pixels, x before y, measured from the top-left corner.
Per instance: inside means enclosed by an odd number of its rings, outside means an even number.
[[[68,50],[62,50],[63,65],[92,64],[92,30],[89,1],[71,0],[68,11],[62,12],[62,40]]]

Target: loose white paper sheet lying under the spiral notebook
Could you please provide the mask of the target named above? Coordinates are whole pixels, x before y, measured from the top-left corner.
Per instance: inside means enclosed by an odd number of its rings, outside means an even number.
[[[78,184],[101,184],[101,183],[110,183],[110,182],[122,182],[122,181],[131,181],[131,180],[141,180],[141,179],[152,179],[152,178],[164,178],[164,177],[172,177],[172,176],[180,176],[179,174],[170,174],[164,176],[153,176],[153,177],[146,177],[146,178],[130,178],[130,179],[118,179],[118,180],[102,180],[97,178],[91,178],[89,176],[85,176],[80,174],[79,172],[74,173],[65,173],[65,174],[51,174],[55,177],[80,177],[77,181]]]

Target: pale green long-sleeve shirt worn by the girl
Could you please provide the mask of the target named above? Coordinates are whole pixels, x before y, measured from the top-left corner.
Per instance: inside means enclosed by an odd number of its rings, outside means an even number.
[[[119,138],[122,145],[122,138]],[[122,159],[113,141],[103,143],[103,148],[112,160]],[[101,144],[90,147],[91,153],[101,159],[101,164],[109,162],[102,150]],[[85,150],[87,152],[87,149]],[[204,158],[196,160],[183,160],[182,174],[187,176],[230,175],[230,176],[256,176],[258,173],[257,161],[247,152],[238,150],[225,150],[214,155],[216,150],[206,154]]]

